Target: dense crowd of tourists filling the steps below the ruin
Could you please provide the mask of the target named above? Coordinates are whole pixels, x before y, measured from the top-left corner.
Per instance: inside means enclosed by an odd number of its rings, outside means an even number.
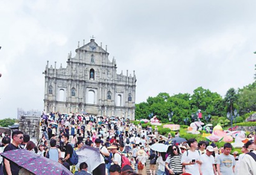
[[[232,175],[256,174],[256,144],[249,140],[241,149],[243,154],[233,151],[230,143],[218,148],[215,143],[197,141],[172,142],[167,151],[151,149],[154,144],[165,144],[166,139],[179,137],[170,133],[167,138],[158,134],[157,127],[142,128],[129,119],[118,117],[96,117],[92,115],[61,115],[58,113],[41,116],[42,135],[38,143],[22,131],[15,131],[11,138],[2,139],[0,152],[27,149],[52,161],[59,162],[74,174],[182,174]],[[252,139],[254,136],[251,136]],[[74,163],[75,154],[83,145],[98,148],[100,164],[88,172],[88,162]],[[7,159],[0,159],[1,173],[19,174],[20,167]],[[149,164],[149,165],[147,165]],[[157,165],[158,164],[158,170]],[[0,174],[1,174],[0,173]]]

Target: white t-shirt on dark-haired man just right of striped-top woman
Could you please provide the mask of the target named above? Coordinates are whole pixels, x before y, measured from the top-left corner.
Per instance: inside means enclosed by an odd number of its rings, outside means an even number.
[[[187,151],[188,151],[188,156],[187,156]],[[183,153],[182,158],[181,158],[181,163],[185,162],[185,163],[189,163],[191,162],[193,159],[200,160],[200,154],[198,152],[198,150],[195,150],[194,152],[191,150],[187,150]],[[186,165],[185,166],[186,172],[193,174],[193,175],[200,175],[199,172],[199,166],[198,164],[194,164],[194,165]]]

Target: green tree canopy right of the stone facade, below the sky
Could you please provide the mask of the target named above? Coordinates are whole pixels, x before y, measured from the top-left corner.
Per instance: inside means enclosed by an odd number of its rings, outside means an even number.
[[[243,89],[230,88],[224,97],[203,87],[195,89],[191,95],[179,93],[170,96],[168,93],[159,93],[156,97],[148,97],[146,102],[136,104],[135,118],[150,119],[153,113],[162,122],[169,122],[168,114],[173,112],[171,122],[185,124],[184,119],[187,118],[188,123],[194,122],[191,115],[195,116],[201,110],[203,122],[210,115],[212,123],[216,125],[222,122],[225,125],[230,122],[226,118],[227,112],[233,112],[234,109],[240,116],[256,111],[256,81]],[[219,117],[223,118],[219,120]],[[238,116],[234,122],[242,122],[243,119],[245,117]]]

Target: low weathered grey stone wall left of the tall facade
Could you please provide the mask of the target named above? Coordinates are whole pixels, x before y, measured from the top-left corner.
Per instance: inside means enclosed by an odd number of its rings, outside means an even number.
[[[19,130],[28,134],[31,138],[39,138],[40,116],[22,116],[19,119]]]

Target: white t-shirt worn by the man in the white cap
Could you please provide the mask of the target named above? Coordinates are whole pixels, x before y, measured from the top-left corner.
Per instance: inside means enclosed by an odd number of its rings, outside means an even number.
[[[202,164],[201,164],[201,171],[204,175],[214,175],[214,168],[212,164],[214,164],[215,160],[212,155],[207,156],[206,154],[201,155],[200,157]]]

